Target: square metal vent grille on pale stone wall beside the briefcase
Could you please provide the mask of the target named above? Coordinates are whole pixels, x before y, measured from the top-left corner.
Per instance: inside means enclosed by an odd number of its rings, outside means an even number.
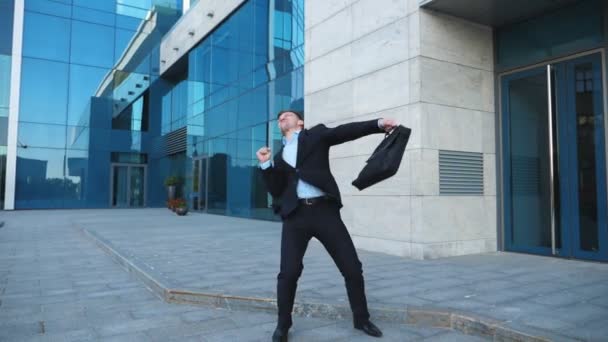
[[[440,195],[483,195],[483,153],[439,151]]]

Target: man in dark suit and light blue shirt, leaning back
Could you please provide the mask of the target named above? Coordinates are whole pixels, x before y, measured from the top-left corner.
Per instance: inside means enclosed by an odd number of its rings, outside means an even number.
[[[272,340],[287,341],[297,282],[304,268],[302,259],[313,237],[323,244],[344,276],[354,327],[380,337],[382,332],[369,320],[362,265],[340,217],[342,200],[329,169],[329,148],[388,132],[397,124],[391,119],[377,119],[304,129],[303,115],[295,110],[279,112],[278,124],[283,148],[275,155],[274,164],[268,147],[257,152],[268,191],[280,203],[275,211],[283,220],[277,276],[279,318]]]

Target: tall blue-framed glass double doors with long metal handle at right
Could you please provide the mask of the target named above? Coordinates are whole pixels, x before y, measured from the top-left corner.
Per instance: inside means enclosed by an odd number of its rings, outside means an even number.
[[[501,80],[507,250],[608,256],[601,58]]]

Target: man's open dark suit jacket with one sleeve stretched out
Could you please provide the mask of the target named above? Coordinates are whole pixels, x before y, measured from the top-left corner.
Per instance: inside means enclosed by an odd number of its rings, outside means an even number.
[[[384,131],[378,127],[378,119],[348,123],[334,128],[320,124],[304,129],[298,136],[296,167],[291,167],[283,160],[281,148],[274,157],[274,166],[262,171],[268,191],[275,199],[275,212],[285,219],[297,208],[298,179],[323,190],[342,207],[338,184],[329,170],[329,148],[382,132]]]

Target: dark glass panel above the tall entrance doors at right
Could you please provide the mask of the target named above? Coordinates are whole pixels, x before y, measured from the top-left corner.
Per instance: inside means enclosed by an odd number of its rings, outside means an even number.
[[[497,30],[498,68],[532,64],[598,46],[605,39],[602,13],[602,1],[581,1]]]

